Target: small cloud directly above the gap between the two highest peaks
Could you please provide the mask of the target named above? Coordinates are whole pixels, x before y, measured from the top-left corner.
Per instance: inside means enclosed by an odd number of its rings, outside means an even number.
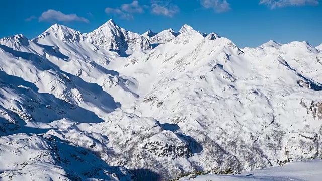
[[[151,5],[151,12],[156,15],[163,15],[173,17],[179,13],[179,7],[169,2],[153,1]]]

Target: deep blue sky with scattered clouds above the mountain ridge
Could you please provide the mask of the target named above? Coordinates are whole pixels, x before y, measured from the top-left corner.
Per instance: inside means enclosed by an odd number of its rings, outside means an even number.
[[[2,0],[0,37],[34,38],[54,23],[87,33],[109,19],[140,34],[188,24],[239,47],[271,39],[322,43],[321,0]]]

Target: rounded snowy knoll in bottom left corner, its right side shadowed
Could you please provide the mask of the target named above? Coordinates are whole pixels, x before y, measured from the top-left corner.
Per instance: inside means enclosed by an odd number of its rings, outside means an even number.
[[[1,180],[132,180],[90,151],[47,134],[0,138]],[[132,176],[133,177],[133,176]]]

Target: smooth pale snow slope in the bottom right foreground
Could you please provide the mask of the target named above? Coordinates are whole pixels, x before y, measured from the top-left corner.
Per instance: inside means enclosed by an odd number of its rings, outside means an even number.
[[[270,181],[282,181],[282,180],[307,180],[318,181],[322,175],[320,167],[322,166],[321,160],[310,160],[305,162],[294,162],[286,164],[282,167],[272,167],[264,170],[255,170],[252,172],[245,172],[241,175],[204,175],[197,176],[196,178],[179,179],[180,181],[206,181],[206,180],[270,180]]]

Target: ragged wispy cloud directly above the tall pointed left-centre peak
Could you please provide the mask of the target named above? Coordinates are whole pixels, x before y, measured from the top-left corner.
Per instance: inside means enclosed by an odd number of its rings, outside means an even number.
[[[120,16],[122,19],[132,20],[134,19],[134,13],[143,13],[143,6],[139,5],[138,1],[133,1],[130,4],[122,4],[119,8],[105,8],[105,13],[114,14],[115,16]]]

